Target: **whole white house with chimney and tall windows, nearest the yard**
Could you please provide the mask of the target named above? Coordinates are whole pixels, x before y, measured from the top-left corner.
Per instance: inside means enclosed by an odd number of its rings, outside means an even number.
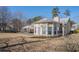
[[[60,36],[70,32],[69,18],[54,17],[52,20],[46,18],[34,23],[34,35],[37,36]]]

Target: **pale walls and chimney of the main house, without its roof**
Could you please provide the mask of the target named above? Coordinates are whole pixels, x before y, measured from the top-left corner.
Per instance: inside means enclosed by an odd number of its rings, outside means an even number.
[[[61,22],[62,25],[60,25],[60,18],[59,17],[55,17],[54,20],[55,22],[48,24],[47,23],[40,23],[40,24],[35,24],[34,25],[34,34],[35,35],[44,35],[44,36],[59,36],[59,35],[66,35],[70,32],[71,30],[71,24],[69,22],[67,22],[66,25],[64,25],[64,22]],[[48,27],[49,25],[51,25],[52,27],[52,31],[51,33],[48,33],[48,31],[50,30]],[[44,30],[45,30],[45,34],[43,34],[43,28],[42,26],[45,26]],[[60,29],[61,28],[61,29]],[[61,31],[61,33],[60,33]]]

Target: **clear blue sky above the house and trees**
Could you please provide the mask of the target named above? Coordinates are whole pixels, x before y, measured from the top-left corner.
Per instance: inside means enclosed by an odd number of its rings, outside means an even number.
[[[35,16],[42,16],[44,18],[52,19],[52,9],[56,6],[8,6],[13,13],[21,12],[26,18],[33,18]],[[57,6],[59,11],[63,13],[66,9],[70,10],[70,18],[75,22],[79,22],[79,6]],[[60,14],[62,16],[62,14]]]

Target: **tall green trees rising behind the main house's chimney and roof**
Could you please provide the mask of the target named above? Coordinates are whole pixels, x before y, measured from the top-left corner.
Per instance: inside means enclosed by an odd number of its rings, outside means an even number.
[[[59,16],[60,14],[63,14],[64,17],[69,17],[68,22],[71,23],[71,26],[72,26],[73,24],[75,24],[75,22],[72,21],[71,18],[70,18],[71,12],[70,12],[69,9],[64,10],[64,12],[60,12],[60,10],[59,10],[58,7],[55,7],[55,8],[52,9],[52,18],[54,18],[54,17],[56,17],[56,16]]]

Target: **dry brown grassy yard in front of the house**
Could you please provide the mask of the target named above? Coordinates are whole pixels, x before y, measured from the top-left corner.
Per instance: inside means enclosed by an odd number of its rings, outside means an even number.
[[[35,38],[30,34],[0,33],[0,51],[53,52],[79,51],[79,33],[66,37]]]

